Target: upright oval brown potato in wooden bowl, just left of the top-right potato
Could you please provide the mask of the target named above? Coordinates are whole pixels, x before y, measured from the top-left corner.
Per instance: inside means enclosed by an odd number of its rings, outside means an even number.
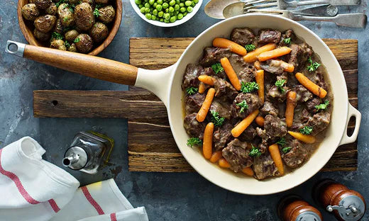
[[[75,7],[75,24],[79,30],[89,30],[94,22],[92,7],[89,4],[82,3]]]

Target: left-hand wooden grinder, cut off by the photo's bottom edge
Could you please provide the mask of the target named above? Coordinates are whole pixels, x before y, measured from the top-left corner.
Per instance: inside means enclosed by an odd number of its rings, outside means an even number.
[[[319,210],[309,205],[299,196],[286,196],[277,205],[277,212],[282,221],[321,221]]]

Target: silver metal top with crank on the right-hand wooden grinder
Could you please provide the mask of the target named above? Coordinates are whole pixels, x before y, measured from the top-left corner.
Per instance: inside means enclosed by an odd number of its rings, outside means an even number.
[[[345,221],[357,221],[363,217],[365,204],[358,196],[351,195],[343,198],[338,205],[329,205],[326,207],[328,212],[337,210],[338,214]]]

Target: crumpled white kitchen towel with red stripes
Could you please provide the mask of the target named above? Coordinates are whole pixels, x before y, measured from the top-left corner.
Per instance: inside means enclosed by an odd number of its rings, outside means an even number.
[[[44,153],[31,137],[0,149],[0,221],[148,220],[114,179],[77,189],[77,179],[43,160]]]

